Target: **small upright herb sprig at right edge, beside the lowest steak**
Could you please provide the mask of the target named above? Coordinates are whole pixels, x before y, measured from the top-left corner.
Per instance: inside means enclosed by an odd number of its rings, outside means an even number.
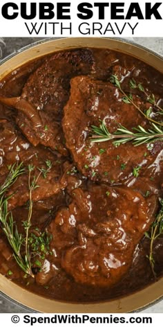
[[[160,200],[161,209],[160,212],[157,214],[157,217],[155,218],[155,221],[153,222],[151,226],[151,230],[149,232],[145,233],[145,236],[151,240],[150,242],[150,249],[149,249],[149,255],[147,256],[149,263],[151,265],[151,269],[153,272],[153,276],[156,277],[155,274],[155,260],[153,258],[153,244],[156,238],[159,238],[159,236],[163,233],[163,200]]]

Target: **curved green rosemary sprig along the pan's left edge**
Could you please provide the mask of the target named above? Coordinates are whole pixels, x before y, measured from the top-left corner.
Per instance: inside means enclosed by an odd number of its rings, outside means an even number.
[[[12,184],[16,182],[17,177],[19,177],[19,175],[23,173],[24,169],[22,167],[22,163],[18,166],[14,164],[10,168],[10,172],[6,177],[6,181],[0,188],[0,222],[1,228],[3,229],[3,232],[5,233],[8,242],[12,247],[12,250],[14,252],[13,256],[17,261],[17,264],[19,265],[19,267],[21,267],[23,272],[26,272],[26,274],[33,276],[27,256],[22,256],[21,254],[21,245],[23,243],[23,237],[22,234],[19,233],[17,230],[17,226],[15,225],[12,218],[12,213],[8,212],[8,198],[5,198],[6,191],[8,191],[10,186],[12,186]]]

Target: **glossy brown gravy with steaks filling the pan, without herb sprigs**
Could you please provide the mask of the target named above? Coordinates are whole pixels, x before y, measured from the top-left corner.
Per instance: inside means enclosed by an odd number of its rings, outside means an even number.
[[[1,81],[0,183],[8,167],[23,161],[26,173],[11,186],[8,208],[20,233],[28,216],[28,165],[39,176],[30,233],[47,231],[50,250],[32,260],[35,279],[24,276],[0,230],[0,272],[37,294],[62,301],[102,301],[154,282],[148,262],[150,229],[163,197],[161,141],[115,148],[90,143],[90,126],[106,123],[115,132],[150,126],[122,101],[111,75],[128,92],[134,78],[162,105],[163,76],[130,56],[107,49],[54,53],[20,67]],[[135,90],[144,112],[150,107]],[[153,118],[157,120],[157,112]],[[48,169],[47,163],[50,163]],[[133,175],[133,168],[140,167]],[[46,171],[46,173],[45,173]],[[163,238],[154,243],[155,272],[163,272]],[[41,263],[41,269],[35,264]],[[12,272],[12,274],[8,274]]]

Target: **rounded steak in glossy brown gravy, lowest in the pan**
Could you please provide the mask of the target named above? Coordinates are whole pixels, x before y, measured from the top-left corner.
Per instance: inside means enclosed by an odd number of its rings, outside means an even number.
[[[146,200],[127,187],[90,183],[50,223],[56,260],[77,283],[113,286],[128,271],[152,218]],[[128,206],[129,204],[129,206]]]

